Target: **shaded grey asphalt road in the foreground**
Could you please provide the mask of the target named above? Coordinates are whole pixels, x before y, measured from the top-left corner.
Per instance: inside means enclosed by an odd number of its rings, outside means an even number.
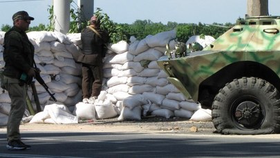
[[[42,129],[43,130],[43,129]],[[23,131],[30,150],[6,149],[0,157],[279,157],[280,135],[219,135],[176,132]]]

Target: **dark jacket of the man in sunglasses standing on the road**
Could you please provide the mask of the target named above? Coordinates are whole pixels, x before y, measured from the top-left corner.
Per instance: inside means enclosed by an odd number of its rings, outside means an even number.
[[[4,37],[3,59],[5,68],[3,75],[19,79],[20,75],[33,67],[34,46],[30,43],[26,32],[12,27]]]

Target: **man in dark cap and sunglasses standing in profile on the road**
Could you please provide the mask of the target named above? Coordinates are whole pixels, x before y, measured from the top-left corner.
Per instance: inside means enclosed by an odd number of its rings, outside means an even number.
[[[13,27],[4,37],[3,88],[8,90],[11,99],[8,117],[7,137],[9,150],[24,150],[30,146],[21,141],[19,125],[26,110],[28,80],[35,76],[33,68],[34,46],[30,43],[26,30],[34,20],[26,11],[16,12],[12,16]]]

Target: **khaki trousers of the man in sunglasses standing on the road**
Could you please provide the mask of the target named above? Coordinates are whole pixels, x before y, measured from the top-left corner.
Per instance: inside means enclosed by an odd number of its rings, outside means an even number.
[[[8,95],[11,99],[7,124],[7,138],[8,141],[20,140],[19,126],[26,110],[27,85],[25,83],[19,85],[19,79],[6,76],[3,77],[3,82],[4,88],[8,90]]]

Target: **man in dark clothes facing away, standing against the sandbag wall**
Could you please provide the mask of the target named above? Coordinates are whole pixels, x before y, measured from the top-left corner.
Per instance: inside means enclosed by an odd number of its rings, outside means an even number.
[[[94,103],[102,88],[102,58],[104,45],[109,41],[108,32],[100,29],[100,19],[94,15],[90,25],[81,32],[82,55],[82,97],[84,103]],[[90,87],[91,86],[91,87]]]

